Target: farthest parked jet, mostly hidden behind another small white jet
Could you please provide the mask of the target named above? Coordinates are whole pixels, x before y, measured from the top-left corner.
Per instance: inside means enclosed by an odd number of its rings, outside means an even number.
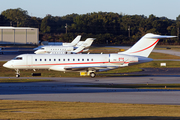
[[[54,46],[76,46],[78,44],[78,42],[80,41],[80,39],[81,39],[81,35],[78,35],[71,43],[61,43],[61,44],[56,43],[56,45],[54,45]],[[52,45],[52,44],[50,44],[50,45]],[[49,45],[41,45],[39,47],[34,48],[33,50],[38,50],[45,46],[49,46]]]

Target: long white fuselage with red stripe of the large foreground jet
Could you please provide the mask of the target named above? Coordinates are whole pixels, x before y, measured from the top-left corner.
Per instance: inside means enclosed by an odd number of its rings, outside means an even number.
[[[143,62],[151,60],[147,58]],[[94,70],[98,72],[128,66],[133,63],[140,63],[138,57],[120,54],[23,54],[8,61],[3,66],[11,69]]]

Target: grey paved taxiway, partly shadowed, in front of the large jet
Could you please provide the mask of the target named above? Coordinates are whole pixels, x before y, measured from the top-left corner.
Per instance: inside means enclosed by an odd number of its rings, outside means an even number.
[[[45,78],[33,77],[33,79]],[[111,86],[114,84],[180,83],[179,76],[46,79],[53,81],[38,83],[0,83],[0,99],[180,105],[180,90],[170,90],[168,86],[167,89],[161,90],[81,86],[92,84],[106,84]]]

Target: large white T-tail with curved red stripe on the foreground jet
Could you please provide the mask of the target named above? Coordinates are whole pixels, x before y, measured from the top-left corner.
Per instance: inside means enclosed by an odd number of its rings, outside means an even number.
[[[156,44],[161,38],[173,38],[176,36],[165,36],[165,35],[155,35],[152,33],[147,33],[144,35],[136,44],[134,44],[130,49],[124,52],[119,52],[118,54],[129,54],[148,57],[152,52]]]

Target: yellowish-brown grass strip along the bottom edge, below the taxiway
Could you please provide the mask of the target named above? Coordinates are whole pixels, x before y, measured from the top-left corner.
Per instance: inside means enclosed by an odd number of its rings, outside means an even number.
[[[0,119],[169,120],[179,105],[0,100]]]

